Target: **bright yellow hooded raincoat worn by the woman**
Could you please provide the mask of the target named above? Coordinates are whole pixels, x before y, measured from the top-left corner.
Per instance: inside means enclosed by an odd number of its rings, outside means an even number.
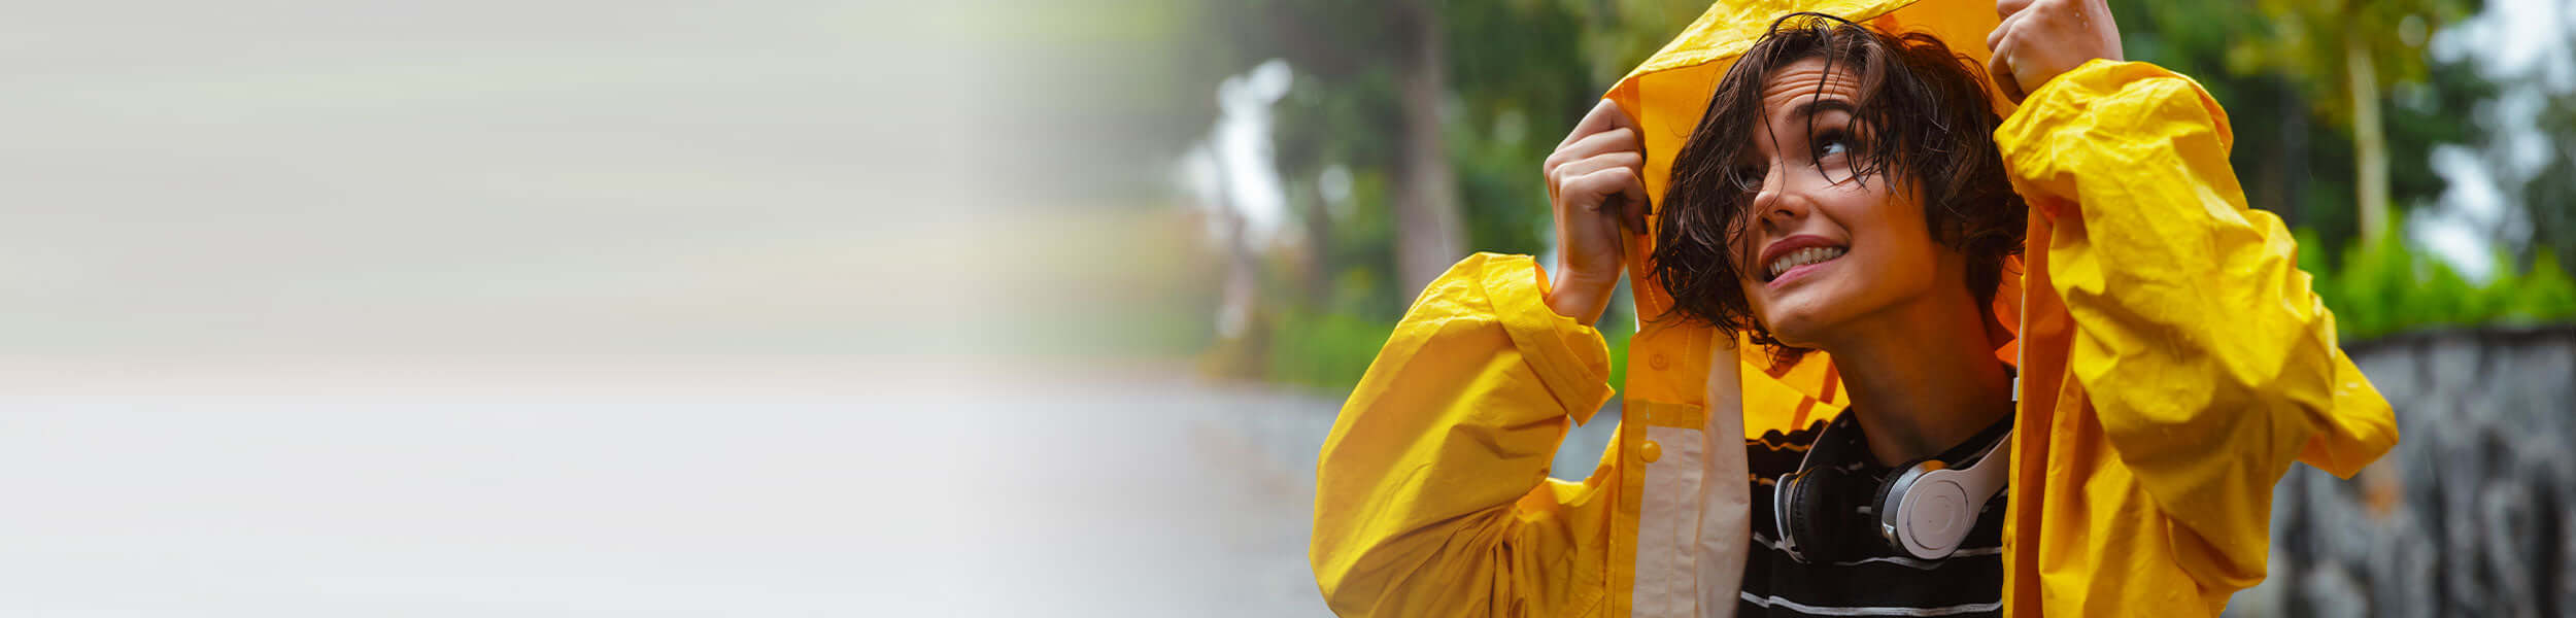
[[[1718,75],[1775,15],[1932,31],[1984,62],[1984,0],[1716,5],[1607,98],[1646,136],[1646,191]],[[2030,198],[2027,260],[1996,312],[2017,340],[2007,615],[2215,615],[2264,577],[2272,484],[2339,476],[2396,443],[2388,402],[2334,342],[2280,219],[2246,209],[2226,113],[2190,77],[2089,62],[1996,142]],[[1669,306],[1631,239],[1638,314]],[[1600,332],[1546,306],[1522,255],[1435,281],[1350,394],[1316,466],[1311,561],[1342,615],[1726,615],[1749,551],[1744,438],[1844,404],[1832,358],[1770,371],[1713,330],[1649,322],[1625,417],[1589,479],[1548,479],[1569,422],[1610,397]]]

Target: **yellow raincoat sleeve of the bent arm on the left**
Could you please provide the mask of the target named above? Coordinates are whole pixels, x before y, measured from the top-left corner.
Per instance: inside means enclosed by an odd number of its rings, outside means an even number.
[[[1471,255],[1404,314],[1316,461],[1309,559],[1340,615],[1577,615],[1602,597],[1605,464],[1548,479],[1610,399],[1600,332],[1525,255]]]

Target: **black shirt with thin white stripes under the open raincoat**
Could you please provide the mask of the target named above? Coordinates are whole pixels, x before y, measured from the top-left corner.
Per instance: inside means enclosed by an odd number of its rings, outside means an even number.
[[[1855,425],[1852,412],[1832,422]],[[2004,420],[2012,422],[2012,420]],[[1886,541],[1878,530],[1826,530],[1852,536],[1852,556],[1819,559],[1806,564],[1780,548],[1780,530],[1772,520],[1772,484],[1790,471],[1816,443],[1826,422],[1814,422],[1795,433],[1765,433],[1744,440],[1752,482],[1752,533],[1754,546],[1744,564],[1744,592],[1736,615],[2002,615],[2004,597],[2004,497],[1996,492],[1976,518],[1976,528],[1947,559],[1914,559]],[[1837,427],[1837,440],[1852,440],[1839,453],[1868,453],[1860,427]],[[1958,445],[1942,461],[1976,453],[1984,443]],[[1844,461],[1855,482],[1837,487],[1850,505],[1875,500],[1878,482],[1891,469],[1868,456]]]

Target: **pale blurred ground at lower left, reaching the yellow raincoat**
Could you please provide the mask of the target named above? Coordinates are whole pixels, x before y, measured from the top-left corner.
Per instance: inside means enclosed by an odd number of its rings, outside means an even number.
[[[1332,399],[675,371],[0,397],[0,613],[1324,615]]]

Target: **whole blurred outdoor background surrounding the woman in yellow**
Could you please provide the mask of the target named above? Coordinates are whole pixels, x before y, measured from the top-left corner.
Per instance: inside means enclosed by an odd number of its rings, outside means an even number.
[[[2231,610],[2576,610],[2576,8],[2112,5],[2406,430]],[[1340,399],[1703,8],[10,5],[0,615],[1327,615]]]

